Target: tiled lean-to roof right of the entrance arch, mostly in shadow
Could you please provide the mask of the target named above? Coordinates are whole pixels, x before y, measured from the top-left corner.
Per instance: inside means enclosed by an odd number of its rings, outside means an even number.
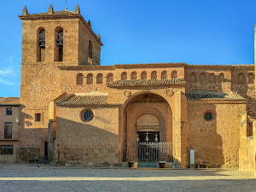
[[[242,96],[238,95],[236,91],[231,91],[227,93],[218,93],[218,92],[193,92],[186,93],[187,100],[224,100],[224,101],[233,101],[233,100],[246,100]]]

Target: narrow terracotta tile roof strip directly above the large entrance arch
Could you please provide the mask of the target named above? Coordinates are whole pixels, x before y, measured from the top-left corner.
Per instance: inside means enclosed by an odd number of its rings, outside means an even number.
[[[145,86],[158,84],[185,84],[184,79],[131,79],[108,82],[108,87]]]

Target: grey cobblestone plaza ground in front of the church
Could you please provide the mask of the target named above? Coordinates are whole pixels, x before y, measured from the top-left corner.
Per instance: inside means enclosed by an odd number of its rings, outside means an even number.
[[[253,173],[236,170],[136,170],[1,165],[0,191],[255,191]]]

